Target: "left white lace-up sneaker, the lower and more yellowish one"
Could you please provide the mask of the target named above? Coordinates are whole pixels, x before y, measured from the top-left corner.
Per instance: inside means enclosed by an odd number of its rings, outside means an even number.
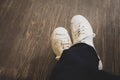
[[[70,36],[63,27],[58,27],[53,31],[51,43],[57,60],[61,57],[63,50],[69,49],[72,45]]]

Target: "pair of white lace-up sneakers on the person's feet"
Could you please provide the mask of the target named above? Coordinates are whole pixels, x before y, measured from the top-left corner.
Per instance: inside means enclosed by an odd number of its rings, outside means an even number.
[[[94,47],[93,38],[95,33],[93,33],[93,29],[85,17],[81,15],[73,16],[71,19],[71,33],[73,44],[86,43]],[[70,36],[63,27],[58,27],[53,31],[51,43],[57,60],[61,57],[63,50],[69,49],[72,46]],[[99,56],[98,58],[100,59]],[[98,69],[102,70],[102,67],[103,65],[100,60]]]

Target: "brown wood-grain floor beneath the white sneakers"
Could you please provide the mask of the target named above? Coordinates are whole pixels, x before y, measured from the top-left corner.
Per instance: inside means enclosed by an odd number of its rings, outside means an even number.
[[[50,35],[85,16],[104,70],[120,75],[120,0],[0,0],[0,80],[48,80],[56,64]]]

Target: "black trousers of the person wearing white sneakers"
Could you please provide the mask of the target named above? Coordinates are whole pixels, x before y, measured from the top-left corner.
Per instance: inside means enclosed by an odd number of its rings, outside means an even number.
[[[99,58],[93,47],[78,43],[64,50],[50,80],[120,80],[120,77],[98,70]]]

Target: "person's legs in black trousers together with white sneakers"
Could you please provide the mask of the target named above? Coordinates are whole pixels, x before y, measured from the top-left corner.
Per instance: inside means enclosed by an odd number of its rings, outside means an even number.
[[[58,31],[58,32],[57,32]],[[96,54],[92,27],[81,15],[71,20],[73,46],[65,29],[55,30],[52,34],[52,47],[59,59],[50,80],[120,80],[102,69]]]

